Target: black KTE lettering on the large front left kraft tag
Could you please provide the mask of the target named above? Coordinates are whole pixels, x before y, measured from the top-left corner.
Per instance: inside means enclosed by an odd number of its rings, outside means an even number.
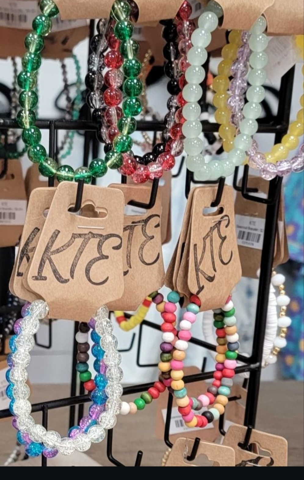
[[[99,261],[103,261],[103,260],[107,260],[109,258],[108,255],[106,255],[104,252],[103,252],[103,246],[105,245],[106,242],[108,242],[108,240],[112,240],[112,239],[117,239],[117,244],[112,246],[112,250],[120,250],[122,248],[122,238],[120,237],[120,235],[117,235],[117,234],[107,234],[107,235],[102,235],[102,234],[99,234],[99,233],[93,233],[93,232],[89,232],[89,233],[73,233],[70,240],[68,240],[66,243],[64,243],[63,245],[61,245],[60,247],[56,248],[55,250],[52,250],[53,248],[53,245],[55,244],[56,240],[58,239],[58,236],[60,234],[60,230],[54,230],[54,232],[52,233],[51,237],[49,238],[48,242],[47,242],[47,245],[45,247],[45,250],[41,256],[41,259],[40,259],[40,262],[39,262],[39,266],[38,266],[38,270],[37,270],[37,275],[35,276],[32,276],[32,279],[33,280],[37,280],[37,281],[46,281],[47,280],[47,276],[43,275],[43,272],[44,272],[44,269],[45,269],[45,266],[47,264],[47,262],[49,263],[50,267],[51,267],[51,270],[52,270],[52,273],[53,275],[55,276],[56,280],[59,282],[59,283],[62,283],[62,284],[65,284],[65,283],[68,283],[70,281],[70,278],[73,279],[74,276],[75,276],[75,271],[76,271],[76,267],[80,261],[80,258],[82,256],[82,253],[84,252],[85,248],[87,247],[87,245],[89,244],[90,240],[92,239],[98,239],[98,243],[97,243],[97,253],[98,253],[98,256],[97,257],[94,257],[93,259],[91,259],[85,266],[85,276],[88,280],[89,283],[91,283],[92,285],[104,285],[109,277],[106,276],[103,280],[101,280],[100,282],[94,282],[91,278],[91,269],[93,267],[93,265],[96,263],[96,262],[99,262]],[[79,240],[81,239],[82,240],[82,243],[80,245],[80,247],[78,248],[74,258],[73,258],[73,261],[71,263],[71,266],[70,266],[70,278],[64,278],[53,258],[56,257],[56,255],[62,253],[62,252],[65,252],[67,251],[72,245],[73,243],[76,241],[76,240]]]

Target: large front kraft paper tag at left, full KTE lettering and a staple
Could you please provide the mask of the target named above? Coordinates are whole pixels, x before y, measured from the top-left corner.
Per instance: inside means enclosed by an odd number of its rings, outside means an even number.
[[[59,183],[28,272],[29,287],[49,305],[51,318],[88,322],[96,310],[123,294],[124,195],[84,185],[74,214],[77,183]]]

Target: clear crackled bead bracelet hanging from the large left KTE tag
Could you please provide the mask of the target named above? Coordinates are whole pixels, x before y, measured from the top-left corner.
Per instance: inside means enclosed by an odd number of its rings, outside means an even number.
[[[32,304],[26,304],[23,307],[23,318],[15,322],[16,335],[10,340],[12,353],[7,357],[10,367],[6,374],[9,383],[7,395],[11,398],[10,410],[14,416],[12,424],[18,430],[17,439],[25,444],[25,452],[28,456],[43,454],[53,457],[58,452],[70,455],[75,450],[81,452],[88,450],[91,443],[100,443],[105,438],[105,429],[115,426],[116,415],[121,408],[122,371],[119,367],[121,356],[117,351],[117,339],[112,335],[113,325],[108,318],[108,309],[103,306],[97,311],[90,324],[95,331],[94,341],[99,336],[99,347],[104,351],[103,359],[100,358],[100,365],[106,369],[105,392],[103,388],[99,389],[97,377],[99,379],[100,374],[97,374],[94,379],[96,388],[91,393],[94,403],[90,407],[89,415],[83,417],[79,427],[73,427],[69,431],[68,437],[61,438],[58,432],[47,431],[42,425],[35,424],[35,420],[30,415],[32,405],[28,400],[30,389],[26,384],[26,367],[31,360],[30,351],[35,344],[34,335],[39,329],[39,320],[45,318],[47,312],[48,306],[43,300],[35,300]],[[87,335],[85,332],[79,333]],[[79,335],[78,337],[79,340],[84,340],[84,337],[80,338]],[[102,386],[104,381],[103,377]]]

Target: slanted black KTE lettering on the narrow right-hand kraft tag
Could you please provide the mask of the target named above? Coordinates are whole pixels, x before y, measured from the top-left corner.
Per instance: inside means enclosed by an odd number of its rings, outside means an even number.
[[[228,215],[223,215],[218,222],[212,225],[209,232],[206,233],[206,235],[203,237],[203,246],[202,246],[202,252],[200,257],[198,255],[198,244],[195,243],[193,245],[195,275],[196,275],[196,281],[198,285],[198,290],[196,292],[197,295],[199,295],[205,288],[204,284],[201,284],[200,276],[203,276],[203,278],[208,282],[213,282],[215,280],[217,258],[220,260],[222,265],[228,265],[232,260],[232,257],[233,257],[232,251],[227,261],[225,261],[222,257],[222,248],[225,243],[225,240],[227,239],[227,235],[222,235],[221,228],[228,228],[229,225],[230,225],[230,218]],[[218,252],[214,252],[214,242],[216,240],[216,235],[221,240],[218,248]],[[211,272],[207,273],[201,268],[201,264],[203,263],[205,254],[207,252],[208,240],[210,245],[209,248],[210,248],[210,260],[211,260],[211,266],[212,266],[212,273]]]

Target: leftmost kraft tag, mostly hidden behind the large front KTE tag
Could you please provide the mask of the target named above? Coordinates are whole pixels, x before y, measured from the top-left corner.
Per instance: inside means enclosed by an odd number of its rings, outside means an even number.
[[[12,271],[10,286],[12,283],[14,293],[17,297],[30,302],[41,299],[41,296],[29,287],[27,275],[46,222],[47,210],[50,208],[55,192],[56,188],[53,187],[33,190],[27,207],[18,255]]]

